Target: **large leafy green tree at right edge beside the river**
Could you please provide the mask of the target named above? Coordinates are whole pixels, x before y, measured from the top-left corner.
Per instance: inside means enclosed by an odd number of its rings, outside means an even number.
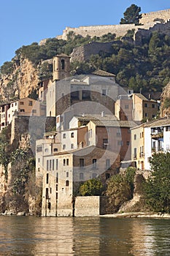
[[[144,186],[145,202],[152,211],[170,213],[170,153],[154,154],[150,164],[152,175]]]

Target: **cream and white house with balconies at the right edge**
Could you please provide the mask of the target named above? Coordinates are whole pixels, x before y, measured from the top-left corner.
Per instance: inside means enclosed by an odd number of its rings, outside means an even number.
[[[131,129],[131,161],[139,170],[150,170],[152,154],[170,149],[170,119],[158,118]]]

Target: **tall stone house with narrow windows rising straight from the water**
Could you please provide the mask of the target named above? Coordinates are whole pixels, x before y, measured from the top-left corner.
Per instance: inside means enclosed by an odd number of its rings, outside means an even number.
[[[45,157],[42,216],[74,216],[74,196],[80,182],[104,173],[106,180],[119,167],[120,159],[111,151],[88,146]]]

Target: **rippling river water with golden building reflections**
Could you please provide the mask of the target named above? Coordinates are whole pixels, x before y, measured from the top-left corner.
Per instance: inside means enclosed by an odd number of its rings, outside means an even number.
[[[0,255],[168,256],[170,219],[0,216]]]

